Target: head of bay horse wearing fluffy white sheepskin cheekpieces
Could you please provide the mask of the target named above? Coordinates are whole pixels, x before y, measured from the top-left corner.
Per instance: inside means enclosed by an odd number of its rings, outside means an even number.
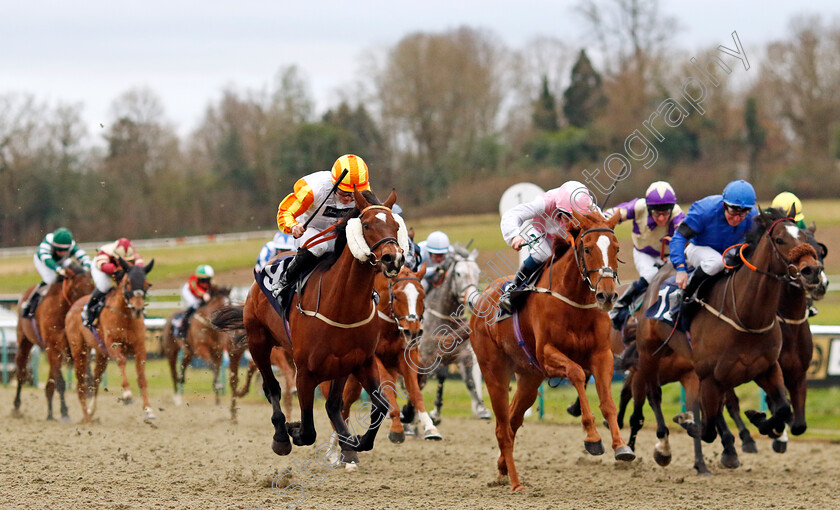
[[[347,246],[353,256],[378,265],[388,278],[397,276],[408,252],[408,230],[402,218],[391,212],[397,193],[391,191],[383,205],[372,204],[359,191],[354,192],[358,218],[347,220]]]

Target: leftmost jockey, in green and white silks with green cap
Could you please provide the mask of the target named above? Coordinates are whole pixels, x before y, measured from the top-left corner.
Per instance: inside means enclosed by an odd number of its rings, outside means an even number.
[[[35,269],[41,275],[41,282],[29,295],[29,299],[21,303],[23,317],[35,317],[35,309],[41,298],[47,295],[58,275],[65,276],[64,268],[70,265],[72,259],[77,259],[85,269],[90,269],[90,257],[73,240],[73,234],[64,227],[49,233],[41,241],[38,251],[32,257]]]

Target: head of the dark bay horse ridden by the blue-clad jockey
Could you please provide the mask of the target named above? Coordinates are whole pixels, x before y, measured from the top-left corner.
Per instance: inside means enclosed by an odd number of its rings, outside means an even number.
[[[767,236],[774,255],[769,270],[774,274],[786,274],[792,280],[799,279],[808,292],[816,289],[822,272],[817,252],[808,244],[805,232],[796,226],[793,218],[786,217],[778,209],[770,209],[760,211],[755,223],[756,227],[747,239],[754,242],[755,236],[761,235],[763,241]]]

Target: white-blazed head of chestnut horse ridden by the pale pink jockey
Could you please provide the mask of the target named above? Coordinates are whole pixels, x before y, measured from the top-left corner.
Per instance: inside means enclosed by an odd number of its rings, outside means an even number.
[[[573,211],[569,218],[573,252],[583,281],[595,293],[598,308],[609,311],[617,298],[618,240],[615,237],[619,215],[609,220],[598,210]],[[593,283],[593,275],[597,275]]]

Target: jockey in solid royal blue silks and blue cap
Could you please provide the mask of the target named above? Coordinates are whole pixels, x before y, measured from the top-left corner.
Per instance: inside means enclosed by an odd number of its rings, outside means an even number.
[[[755,190],[747,181],[732,181],[723,195],[712,195],[691,205],[671,239],[671,262],[676,283],[687,299],[700,283],[723,270],[722,253],[740,243],[758,214]],[[695,267],[689,282],[686,265]]]

